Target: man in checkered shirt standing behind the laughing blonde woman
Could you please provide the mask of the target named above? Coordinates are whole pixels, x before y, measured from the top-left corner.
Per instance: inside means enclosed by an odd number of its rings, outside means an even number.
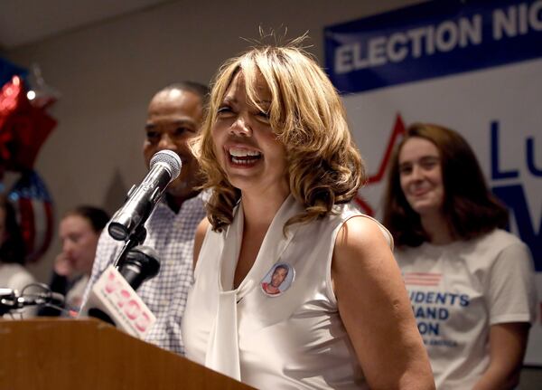
[[[205,215],[203,195],[198,189],[199,165],[187,142],[200,132],[207,99],[208,88],[192,81],[159,90],[148,107],[143,143],[146,166],[156,152],[164,149],[173,150],[182,160],[180,176],[168,185],[145,223],[144,244],[158,253],[160,271],[136,291],[156,316],[146,341],[181,355],[181,319],[192,285],[194,232]],[[102,233],[84,301],[101,273],[117,259],[123,244],[113,240],[107,229]]]

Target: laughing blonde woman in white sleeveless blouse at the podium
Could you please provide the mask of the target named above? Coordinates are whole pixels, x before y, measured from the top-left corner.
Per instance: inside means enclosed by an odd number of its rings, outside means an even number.
[[[211,91],[187,357],[261,389],[434,388],[389,233],[349,205],[364,168],[341,99],[296,44],[229,60]]]

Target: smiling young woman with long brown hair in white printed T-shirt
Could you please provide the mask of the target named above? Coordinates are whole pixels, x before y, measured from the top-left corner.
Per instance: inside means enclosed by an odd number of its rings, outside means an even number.
[[[536,292],[528,247],[502,230],[491,195],[457,132],[416,123],[397,146],[383,223],[438,389],[518,385]]]

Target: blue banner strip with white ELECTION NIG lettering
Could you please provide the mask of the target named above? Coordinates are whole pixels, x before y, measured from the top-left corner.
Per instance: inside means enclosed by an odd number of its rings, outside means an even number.
[[[325,28],[341,93],[542,57],[542,0],[433,1]]]

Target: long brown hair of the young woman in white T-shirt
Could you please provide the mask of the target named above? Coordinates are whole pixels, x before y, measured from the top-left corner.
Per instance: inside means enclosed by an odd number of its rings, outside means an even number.
[[[383,223],[397,246],[418,246],[428,241],[420,216],[400,185],[399,152],[410,138],[424,138],[438,149],[443,184],[443,213],[455,240],[470,240],[508,224],[508,210],[491,194],[478,160],[459,133],[443,126],[416,123],[406,129],[391,159],[384,195]]]

